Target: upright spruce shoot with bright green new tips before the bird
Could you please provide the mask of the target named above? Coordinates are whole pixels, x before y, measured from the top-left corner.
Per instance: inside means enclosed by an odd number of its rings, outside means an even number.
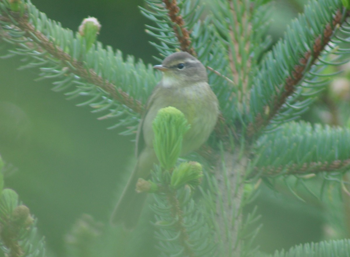
[[[189,129],[184,114],[174,107],[158,111],[153,121],[154,151],[160,162],[152,174],[159,185],[152,209],[156,215],[156,238],[160,256],[212,256],[215,245],[209,226],[192,199],[192,190],[201,182],[202,166],[183,162],[174,167],[181,152],[183,135]],[[189,185],[183,187],[184,185]],[[170,207],[170,208],[169,208]]]

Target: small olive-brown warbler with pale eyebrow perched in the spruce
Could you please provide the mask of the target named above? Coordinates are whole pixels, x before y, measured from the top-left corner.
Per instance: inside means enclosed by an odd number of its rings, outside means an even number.
[[[137,193],[139,178],[148,179],[153,165],[158,163],[153,150],[152,122],[158,110],[173,106],[184,113],[190,129],[184,134],[181,155],[199,148],[207,141],[218,117],[218,100],[208,84],[204,65],[187,52],[166,57],[161,65],[153,66],[163,72],[146,104],[136,136],[137,164],[117,203],[111,223],[124,223],[125,228],[137,225],[146,193]]]

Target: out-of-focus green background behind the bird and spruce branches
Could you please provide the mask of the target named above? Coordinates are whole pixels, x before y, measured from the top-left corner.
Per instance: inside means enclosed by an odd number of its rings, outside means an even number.
[[[148,43],[148,23],[139,12],[141,0],[32,0],[49,18],[77,30],[87,16],[102,24],[98,40],[104,45],[155,63],[157,51]],[[269,33],[282,36],[290,19],[302,11],[302,0],[274,2]],[[2,54],[6,49],[1,50]],[[83,99],[65,100],[50,90],[52,81],[35,81],[38,70],[22,70],[20,58],[0,60],[0,154],[13,165],[6,186],[38,218],[49,248],[61,255],[63,236],[82,214],[106,222],[117,192],[133,165],[133,137],[107,130],[113,120],[98,121]],[[293,196],[264,188],[258,204],[264,228],[258,236],[262,250],[289,248],[322,238],[321,207],[308,206]]]

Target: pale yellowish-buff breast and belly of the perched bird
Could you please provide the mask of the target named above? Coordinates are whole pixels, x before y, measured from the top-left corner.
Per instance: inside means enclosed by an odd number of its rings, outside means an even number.
[[[205,82],[186,87],[166,86],[164,80],[162,84],[144,120],[143,132],[146,145],[153,144],[152,122],[158,110],[173,106],[184,113],[191,125],[190,130],[184,135],[182,144],[182,154],[186,154],[207,141],[213,130],[218,114],[216,96]],[[146,135],[148,135],[147,138]]]

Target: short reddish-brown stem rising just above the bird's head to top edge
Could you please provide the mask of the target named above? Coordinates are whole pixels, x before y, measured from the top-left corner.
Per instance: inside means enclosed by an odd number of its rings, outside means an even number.
[[[169,11],[168,15],[170,17],[170,20],[174,23],[173,29],[177,40],[180,42],[181,51],[188,52],[193,56],[197,56],[194,48],[190,47],[190,34],[185,26],[185,21],[180,15],[180,8],[177,6],[176,0],[163,0],[163,3]]]

